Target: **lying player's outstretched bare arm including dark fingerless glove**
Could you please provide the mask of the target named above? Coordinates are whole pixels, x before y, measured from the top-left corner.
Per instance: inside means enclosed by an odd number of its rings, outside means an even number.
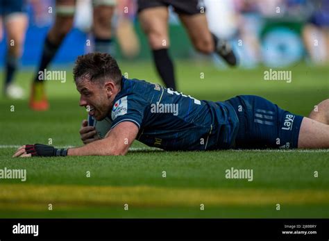
[[[31,156],[119,156],[125,155],[135,140],[138,127],[132,122],[121,122],[112,128],[102,140],[83,147],[56,149],[44,144],[26,144],[17,149],[13,157]]]

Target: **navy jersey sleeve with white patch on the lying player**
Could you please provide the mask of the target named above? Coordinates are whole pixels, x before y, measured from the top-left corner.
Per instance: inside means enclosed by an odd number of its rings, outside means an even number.
[[[114,128],[120,122],[133,122],[138,128],[140,128],[140,126],[142,126],[144,110],[146,107],[146,101],[134,94],[121,97],[115,101],[115,104],[112,108],[111,128]]]

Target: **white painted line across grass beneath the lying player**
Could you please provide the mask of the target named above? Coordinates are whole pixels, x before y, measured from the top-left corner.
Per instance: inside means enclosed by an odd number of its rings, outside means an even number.
[[[0,144],[0,149],[18,148],[17,144]],[[72,148],[74,146],[62,146],[57,148]],[[163,151],[156,147],[130,147],[129,151]],[[329,149],[230,149],[228,151],[253,151],[253,152],[329,152]]]

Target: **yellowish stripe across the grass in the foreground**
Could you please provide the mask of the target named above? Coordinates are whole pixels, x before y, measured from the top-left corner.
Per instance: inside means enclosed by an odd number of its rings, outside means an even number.
[[[329,204],[328,190],[203,189],[151,186],[83,186],[4,184],[0,186],[0,207],[4,204],[63,206],[251,206],[280,204]],[[16,206],[16,208],[17,208]]]

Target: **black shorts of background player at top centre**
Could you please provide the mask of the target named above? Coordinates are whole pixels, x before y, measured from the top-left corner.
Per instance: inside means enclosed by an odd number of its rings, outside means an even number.
[[[146,8],[161,6],[172,6],[178,14],[195,15],[205,13],[205,6],[202,0],[137,0],[137,5],[138,13]]]

